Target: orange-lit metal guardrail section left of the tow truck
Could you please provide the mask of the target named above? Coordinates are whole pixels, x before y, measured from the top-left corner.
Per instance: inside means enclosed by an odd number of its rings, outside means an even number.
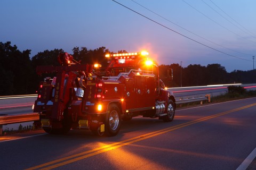
[[[21,115],[0,115],[0,135],[3,132],[3,125],[39,121],[37,113],[21,114]]]

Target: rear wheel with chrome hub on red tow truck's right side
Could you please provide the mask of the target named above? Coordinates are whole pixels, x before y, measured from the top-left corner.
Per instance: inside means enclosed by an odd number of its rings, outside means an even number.
[[[105,118],[106,135],[113,137],[117,135],[121,126],[120,109],[116,104],[111,104]]]

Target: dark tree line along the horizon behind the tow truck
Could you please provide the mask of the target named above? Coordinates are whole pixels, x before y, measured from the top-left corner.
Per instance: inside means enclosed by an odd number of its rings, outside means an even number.
[[[101,63],[107,66],[105,54],[110,53],[106,47],[87,49],[74,47],[74,60],[82,64]],[[31,50],[22,52],[10,41],[0,42],[0,96],[35,94],[39,81],[44,77],[36,74],[38,65],[59,65],[57,56],[63,49],[44,50],[29,57]],[[118,53],[126,52],[119,50]],[[167,69],[173,69],[173,80],[167,81]],[[159,65],[159,75],[167,87],[206,86],[209,84],[255,83],[256,71],[234,70],[228,73],[220,64],[199,64],[181,67],[179,64]]]

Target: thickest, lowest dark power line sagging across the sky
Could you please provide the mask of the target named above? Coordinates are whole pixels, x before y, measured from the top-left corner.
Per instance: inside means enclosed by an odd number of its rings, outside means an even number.
[[[142,15],[142,14],[140,14],[139,12],[134,11],[134,10],[132,10],[131,8],[129,8],[129,7],[127,7],[127,6],[123,5],[123,4],[121,4],[121,3],[119,3],[119,2],[116,2],[116,1],[114,1],[114,0],[112,0],[112,1],[115,2],[115,3],[117,3],[117,4],[119,4],[119,5],[121,5],[121,6],[123,6],[123,7],[125,7],[125,8],[127,8],[128,10],[131,10],[132,12],[135,12],[135,13],[137,13],[137,14],[143,16],[144,18],[146,18],[146,19],[148,19],[148,20],[150,20],[150,21],[152,21],[152,22],[155,22],[156,24],[161,25],[162,27],[164,27],[164,28],[166,28],[166,29],[168,29],[168,30],[173,31],[173,32],[177,33],[177,34],[180,35],[180,36],[183,36],[183,37],[185,37],[185,38],[188,38],[188,39],[190,39],[190,40],[192,40],[192,41],[194,41],[194,42],[196,42],[196,43],[198,43],[198,44],[201,44],[201,45],[203,45],[203,46],[205,46],[205,47],[211,48],[211,49],[213,49],[213,50],[215,50],[215,51],[217,51],[217,52],[220,52],[220,53],[222,53],[222,54],[226,54],[226,55],[231,56],[231,57],[235,57],[235,58],[239,58],[239,59],[241,59],[241,60],[245,60],[245,61],[250,61],[250,62],[251,62],[251,60],[246,60],[246,59],[244,59],[244,58],[240,58],[240,57],[237,57],[237,56],[234,56],[234,55],[230,55],[230,54],[227,54],[227,53],[225,53],[225,52],[221,52],[221,51],[218,50],[218,49],[215,49],[215,48],[212,48],[212,47],[210,47],[210,46],[207,46],[207,45],[205,45],[205,44],[203,44],[203,43],[200,43],[199,41],[196,41],[196,40],[194,40],[194,39],[192,39],[192,38],[189,38],[189,37],[187,37],[187,36],[185,36],[185,35],[182,35],[181,33],[177,32],[177,31],[174,31],[173,29],[171,29],[171,28],[169,28],[169,27],[166,27],[165,25],[163,25],[163,24],[161,24],[161,23],[159,23],[159,22],[156,22],[156,21],[154,21],[154,20],[148,18],[148,17],[145,16],[145,15]]]

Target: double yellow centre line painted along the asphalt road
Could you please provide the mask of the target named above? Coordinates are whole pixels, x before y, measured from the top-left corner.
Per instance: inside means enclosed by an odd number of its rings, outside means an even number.
[[[30,169],[38,169],[38,168],[42,168],[42,169],[57,168],[57,167],[60,167],[60,166],[63,166],[63,165],[74,163],[77,160],[82,160],[82,159],[85,159],[85,158],[88,158],[88,157],[91,157],[91,156],[94,156],[94,155],[98,155],[98,154],[101,154],[103,152],[106,152],[106,151],[109,151],[109,150],[112,150],[112,149],[116,149],[116,148],[120,148],[120,147],[123,147],[123,146],[126,146],[126,145],[130,145],[131,143],[134,143],[134,142],[138,142],[138,141],[141,141],[141,140],[152,138],[152,137],[155,137],[157,135],[160,135],[160,134],[163,134],[163,133],[166,133],[166,132],[170,132],[170,131],[174,131],[174,130],[177,130],[177,129],[180,129],[180,128],[184,128],[186,126],[189,126],[189,125],[192,125],[192,124],[195,124],[195,123],[198,123],[198,122],[206,121],[206,120],[209,120],[211,118],[215,118],[215,117],[219,117],[219,116],[229,114],[229,113],[232,113],[232,112],[240,111],[242,109],[249,108],[249,107],[252,107],[252,106],[255,106],[255,105],[256,105],[256,103],[251,104],[251,105],[247,105],[247,106],[244,106],[244,107],[239,107],[239,108],[233,109],[231,111],[222,112],[222,113],[211,115],[211,116],[206,116],[206,117],[194,120],[194,121],[190,121],[190,122],[187,122],[187,123],[182,123],[182,124],[179,124],[179,125],[175,125],[175,126],[172,126],[170,128],[165,128],[165,129],[162,129],[162,130],[154,131],[154,132],[151,132],[151,133],[140,135],[138,137],[126,139],[126,140],[123,140],[123,141],[120,141],[120,142],[115,142],[115,143],[112,143],[110,145],[102,146],[102,147],[95,148],[95,149],[92,149],[92,150],[87,150],[87,151],[81,152],[79,154],[75,154],[75,155],[71,155],[71,156],[68,156],[68,157],[61,158],[61,159],[53,160],[49,163],[41,164],[41,165],[34,166],[34,167],[31,167],[31,168],[28,168],[28,169],[30,170]]]

